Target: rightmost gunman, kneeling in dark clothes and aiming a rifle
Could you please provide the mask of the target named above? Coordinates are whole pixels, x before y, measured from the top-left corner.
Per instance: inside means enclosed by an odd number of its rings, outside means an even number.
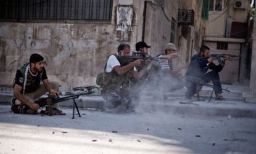
[[[216,100],[223,100],[222,97],[222,89],[221,89],[221,83],[220,83],[220,76],[218,75],[218,72],[222,70],[222,68],[225,65],[225,61],[228,59],[228,57],[223,58],[222,61],[224,65],[215,65],[213,63],[213,60],[216,60],[214,57],[210,56],[210,48],[203,45],[200,47],[199,54],[193,55],[191,59],[191,63],[189,63],[188,71],[186,73],[186,79],[187,79],[187,88],[188,91],[186,92],[186,98],[191,99],[191,97],[196,94],[197,92],[202,89],[202,85],[198,85],[197,79],[201,79],[205,83],[209,83],[212,81],[213,86],[215,86],[213,89],[215,91],[215,99]],[[208,70],[212,70],[209,73],[207,73]]]

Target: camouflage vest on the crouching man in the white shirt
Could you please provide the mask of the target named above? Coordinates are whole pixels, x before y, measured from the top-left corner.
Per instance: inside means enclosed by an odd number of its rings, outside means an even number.
[[[117,60],[120,62],[122,67],[123,66],[122,60],[118,59],[118,55],[117,54],[112,54],[112,55],[115,55],[115,57],[117,57]],[[109,59],[109,57],[107,59]],[[107,67],[107,62],[106,62],[105,68],[106,67]],[[102,91],[106,91],[107,89],[118,90],[121,87],[128,86],[131,83],[131,79],[133,78],[132,70],[128,71],[123,75],[118,75],[117,73],[115,73],[114,70],[112,70],[109,73],[105,72],[105,68],[104,68],[104,72],[99,73],[96,79],[96,84],[101,86]]]

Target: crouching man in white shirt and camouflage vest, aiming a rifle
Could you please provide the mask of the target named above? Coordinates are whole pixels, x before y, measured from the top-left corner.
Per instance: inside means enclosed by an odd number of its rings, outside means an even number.
[[[97,76],[96,83],[101,86],[102,97],[107,100],[106,109],[117,108],[125,105],[125,109],[130,108],[130,86],[133,78],[141,78],[144,71],[134,72],[134,67],[142,65],[143,60],[134,60],[123,65],[119,56],[130,56],[131,49],[128,44],[120,44],[117,54],[112,54],[107,59],[103,73]],[[123,107],[122,105],[122,107]]]

